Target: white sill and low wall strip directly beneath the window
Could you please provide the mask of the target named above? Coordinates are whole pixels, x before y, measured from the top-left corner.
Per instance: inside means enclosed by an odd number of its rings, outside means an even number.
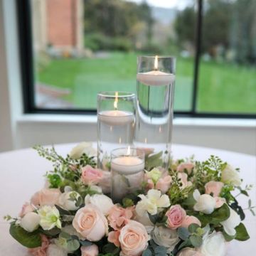
[[[173,142],[256,155],[256,121],[174,119]],[[95,141],[96,117],[27,115],[17,124],[16,147]]]

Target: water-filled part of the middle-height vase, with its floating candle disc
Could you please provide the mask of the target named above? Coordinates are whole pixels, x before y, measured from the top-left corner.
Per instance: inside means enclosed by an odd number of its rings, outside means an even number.
[[[98,113],[97,118],[97,164],[110,170],[110,152],[133,143],[134,114],[111,110]]]

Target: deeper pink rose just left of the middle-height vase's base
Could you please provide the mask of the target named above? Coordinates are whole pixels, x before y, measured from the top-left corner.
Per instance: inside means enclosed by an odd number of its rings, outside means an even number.
[[[81,179],[85,185],[93,185],[99,183],[99,181],[102,179],[102,176],[103,174],[100,169],[92,168],[90,165],[82,167]]]

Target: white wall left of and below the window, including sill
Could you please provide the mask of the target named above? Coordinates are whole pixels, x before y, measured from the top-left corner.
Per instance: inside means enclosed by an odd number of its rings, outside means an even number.
[[[0,0],[0,151],[96,140],[96,117],[22,114],[15,2]],[[256,155],[256,121],[175,119],[173,142]]]

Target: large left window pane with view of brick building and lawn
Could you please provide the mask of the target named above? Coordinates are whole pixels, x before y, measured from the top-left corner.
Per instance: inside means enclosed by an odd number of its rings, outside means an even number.
[[[31,0],[36,107],[95,110],[97,92],[136,92],[137,55],[158,54],[177,57],[175,109],[191,110],[195,2]]]

